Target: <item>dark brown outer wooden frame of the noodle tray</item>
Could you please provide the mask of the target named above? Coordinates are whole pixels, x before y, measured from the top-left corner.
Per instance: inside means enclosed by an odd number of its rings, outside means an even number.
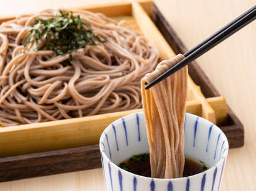
[[[164,24],[164,21],[167,23],[165,26],[169,33],[173,36],[177,36],[176,33],[173,31],[169,23],[165,20],[161,12],[158,10],[156,5],[154,4],[154,11],[152,17],[155,17],[153,20],[155,22],[159,22],[159,17],[161,17],[160,22]],[[158,18],[156,18],[158,17]],[[165,24],[166,24],[165,23]],[[168,27],[169,26],[169,27]],[[168,31],[167,30],[167,31]],[[161,31],[161,30],[160,30]],[[177,41],[181,41],[178,37],[176,37]],[[182,43],[182,42],[181,42]],[[183,44],[183,43],[182,43]],[[180,46],[180,45],[179,45]],[[182,47],[174,49],[174,51],[182,51]],[[184,46],[184,45],[183,45]],[[172,44],[173,47],[173,44]],[[183,47],[183,51],[186,51],[186,47]],[[190,68],[190,70],[197,71],[200,69],[202,70],[197,63],[194,63],[196,68]],[[199,68],[199,69],[198,69]],[[199,70],[199,71],[200,71]],[[200,75],[205,73],[202,71]],[[200,78],[200,77],[199,77]],[[205,75],[205,78],[208,77]],[[210,96],[213,95],[220,95],[216,88],[210,83],[210,80],[206,80],[211,85],[211,92],[207,92]],[[206,84],[208,86],[208,84]],[[231,129],[237,130],[237,137],[244,140],[244,129],[242,126],[241,121],[237,118],[237,116],[233,113],[231,108],[228,107],[229,118],[233,123],[230,126],[221,126],[221,129],[226,129],[226,132],[231,131]],[[228,132],[229,134],[229,132]],[[234,138],[236,139],[236,137]],[[239,147],[241,147],[244,142],[241,142]],[[235,145],[236,147],[238,145]],[[75,156],[77,158],[72,158]],[[90,156],[87,157],[87,156]],[[71,157],[71,158],[69,158]],[[84,165],[86,161],[85,159],[95,161],[94,165]],[[36,162],[36,164],[32,163]],[[47,168],[45,168],[47,167]],[[72,171],[79,171],[83,169],[92,169],[92,168],[100,168],[100,152],[98,145],[90,145],[86,147],[74,147],[74,148],[67,148],[61,150],[53,150],[48,152],[38,152],[38,153],[31,153],[27,155],[18,155],[18,156],[10,156],[6,158],[0,158],[0,182],[4,181],[12,181],[15,179],[22,179],[27,177],[36,177],[36,176],[46,176],[49,174],[58,174],[58,173],[67,173]],[[25,171],[25,173],[24,173]]]

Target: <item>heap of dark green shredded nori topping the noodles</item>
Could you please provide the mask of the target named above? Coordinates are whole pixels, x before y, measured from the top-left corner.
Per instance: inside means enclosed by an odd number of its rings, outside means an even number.
[[[72,61],[72,52],[85,47],[96,45],[97,42],[105,43],[98,35],[93,33],[91,26],[81,19],[75,17],[72,12],[59,10],[61,16],[55,16],[44,20],[36,17],[35,24],[29,30],[29,36],[24,46],[35,40],[36,51],[44,49],[53,50],[58,55],[69,54]],[[43,47],[38,47],[38,40],[45,41]]]

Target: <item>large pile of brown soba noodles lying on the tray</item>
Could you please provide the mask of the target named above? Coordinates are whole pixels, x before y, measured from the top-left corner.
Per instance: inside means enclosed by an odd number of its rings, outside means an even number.
[[[1,126],[142,107],[140,79],[156,67],[155,47],[123,21],[85,10],[72,14],[85,20],[87,25],[80,27],[90,26],[97,38],[67,54],[43,46],[43,39],[28,41],[35,18],[59,17],[58,10],[21,15],[0,25]]]

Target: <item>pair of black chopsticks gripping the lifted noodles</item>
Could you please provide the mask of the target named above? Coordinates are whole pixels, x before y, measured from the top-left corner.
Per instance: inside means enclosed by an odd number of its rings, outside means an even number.
[[[209,36],[207,39],[202,41],[202,43],[198,44],[193,49],[186,52],[184,54],[185,59],[181,60],[181,62],[177,63],[172,68],[167,70],[165,73],[163,73],[163,75],[158,76],[150,84],[148,84],[148,86],[146,86],[145,89],[149,89],[150,87],[154,86],[155,84],[159,83],[163,79],[175,73],[177,70],[181,69],[182,67],[185,67],[188,63],[197,59],[202,54],[209,51],[210,49],[212,49],[222,41],[224,41],[224,39],[233,35],[234,33],[236,33],[236,31],[239,31],[241,28],[243,28],[244,26],[246,26],[247,24],[255,20],[255,18],[256,18],[256,6],[247,10],[246,12],[244,12],[244,14],[240,15],[239,17],[234,19],[232,22],[228,23],[228,25],[224,26],[220,30],[216,31],[216,33],[213,33],[213,35]]]

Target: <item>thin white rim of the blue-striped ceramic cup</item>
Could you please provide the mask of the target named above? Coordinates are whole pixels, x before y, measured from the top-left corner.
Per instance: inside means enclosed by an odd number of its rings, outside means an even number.
[[[130,116],[132,116],[132,115],[136,115],[137,113],[139,114],[139,113],[143,113],[143,112],[131,113],[131,114],[129,114],[129,115],[123,116],[122,118],[128,118],[128,117],[130,117]],[[200,116],[194,115],[194,114],[192,114],[192,113],[186,113],[186,115],[190,115],[190,116],[193,116],[193,117],[195,117],[195,118],[198,117],[198,118],[200,118],[200,120],[204,120],[204,121],[207,121],[207,122],[210,122],[210,123],[211,123],[211,121],[205,120],[205,118],[202,118],[202,117],[200,117]],[[118,118],[117,120],[119,120],[119,119],[120,119],[120,118]],[[116,122],[117,120],[113,121],[111,124],[113,124],[113,123]],[[101,136],[100,136],[100,142],[101,142],[101,140],[102,140],[103,137],[104,137],[104,134],[105,134],[106,129],[108,129],[109,126],[111,126],[111,124],[109,124],[109,125],[105,128],[105,130],[102,132],[102,134],[101,134]],[[213,124],[213,123],[211,123],[211,124]],[[220,129],[220,128],[219,128],[218,126],[216,126],[215,124],[213,125],[213,127]],[[220,129],[220,131],[221,131],[221,129]],[[222,136],[224,136],[224,139],[226,139],[226,142],[228,143],[228,139],[227,139],[226,135],[224,134],[223,131],[221,131],[221,132],[222,132]],[[216,168],[216,166],[219,165],[219,164],[222,162],[222,160],[226,160],[226,158],[228,157],[228,152],[229,152],[229,144],[228,144],[228,148],[227,148],[226,153],[224,154],[224,156],[221,157],[220,160],[219,160],[217,163],[215,163],[215,165],[211,166],[211,168],[207,169],[206,171],[203,171],[202,173],[198,173],[198,174],[194,174],[194,175],[192,175],[192,176],[186,176],[186,177],[177,177],[177,178],[171,178],[171,179],[161,179],[161,178],[153,178],[153,177],[141,176],[141,175],[139,175],[139,174],[130,173],[129,171],[126,171],[126,170],[120,168],[118,165],[116,165],[115,163],[113,163],[113,161],[111,161],[111,160],[109,159],[109,157],[106,155],[105,151],[103,151],[103,149],[102,149],[102,147],[101,147],[101,145],[100,145],[100,153],[101,153],[101,155],[102,155],[102,156],[105,156],[104,158],[106,158],[106,159],[108,160],[108,162],[109,162],[111,165],[114,165],[114,167],[117,168],[119,171],[122,171],[122,172],[124,172],[124,173],[128,173],[128,174],[133,175],[133,176],[136,176],[136,177],[140,177],[140,178],[145,178],[145,179],[150,179],[150,180],[154,179],[154,181],[172,181],[172,182],[173,182],[173,181],[183,181],[184,179],[188,179],[188,178],[190,179],[190,178],[194,178],[194,177],[200,177],[200,176],[202,176],[202,174],[210,173],[211,171],[214,171],[215,168]]]

